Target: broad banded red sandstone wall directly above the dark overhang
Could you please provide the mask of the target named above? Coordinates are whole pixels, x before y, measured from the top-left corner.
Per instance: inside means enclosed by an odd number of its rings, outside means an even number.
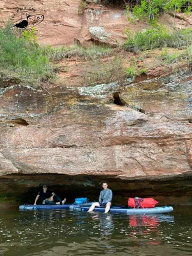
[[[191,82],[183,74],[127,86],[52,88],[49,94],[2,88],[1,153],[22,173],[124,179],[189,172]],[[125,106],[113,103],[116,92]],[[5,162],[1,175],[7,169]]]

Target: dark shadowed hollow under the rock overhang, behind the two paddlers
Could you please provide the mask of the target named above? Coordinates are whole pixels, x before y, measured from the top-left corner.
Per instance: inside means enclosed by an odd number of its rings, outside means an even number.
[[[34,204],[38,191],[47,184],[62,200],[67,198],[67,203],[74,203],[80,197],[87,197],[92,202],[99,200],[102,182],[108,182],[108,188],[113,191],[113,205],[127,205],[129,197],[135,196],[152,197],[159,202],[159,206],[192,205],[191,173],[179,177],[138,177],[126,180],[107,175],[6,175],[6,178],[0,179],[0,196],[10,195],[17,205]]]

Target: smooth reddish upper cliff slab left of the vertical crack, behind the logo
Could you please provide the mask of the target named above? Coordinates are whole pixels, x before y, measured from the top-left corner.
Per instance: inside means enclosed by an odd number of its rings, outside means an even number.
[[[36,26],[38,41],[45,45],[70,45],[74,44],[74,37],[81,29],[82,17],[78,14],[80,2],[81,0],[39,0],[31,3],[28,0],[20,0],[16,3],[5,0],[0,3],[0,20],[13,17],[15,23],[21,17],[26,19],[25,13],[30,15],[40,13],[45,19]]]

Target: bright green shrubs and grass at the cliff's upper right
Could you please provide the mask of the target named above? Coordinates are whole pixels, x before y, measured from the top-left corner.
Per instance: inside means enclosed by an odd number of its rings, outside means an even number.
[[[191,0],[141,0],[132,8],[132,16],[130,15],[129,6],[126,7],[129,20],[146,20],[148,27],[145,31],[137,31],[131,33],[129,29],[125,31],[127,34],[127,42],[125,49],[127,51],[146,51],[161,47],[187,47],[192,43],[192,29],[170,29],[165,28],[162,24],[157,23],[157,17],[162,12],[171,12],[175,17],[177,12],[191,12]]]

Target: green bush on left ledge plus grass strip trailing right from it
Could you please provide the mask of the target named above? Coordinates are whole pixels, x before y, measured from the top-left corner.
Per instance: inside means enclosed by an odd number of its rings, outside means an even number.
[[[52,62],[72,57],[93,60],[111,51],[99,46],[43,47],[36,41],[35,28],[23,31],[20,36],[16,36],[12,28],[12,24],[0,28],[0,82],[6,80],[38,87],[56,77]]]

